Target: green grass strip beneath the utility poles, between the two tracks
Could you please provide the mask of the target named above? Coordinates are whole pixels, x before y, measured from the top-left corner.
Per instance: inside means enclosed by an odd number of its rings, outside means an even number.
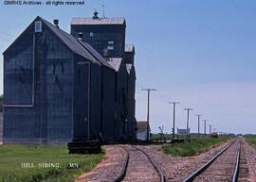
[[[163,144],[161,150],[171,156],[192,157],[209,151],[231,137],[207,138],[207,139],[192,139],[191,142],[184,141],[182,143]]]

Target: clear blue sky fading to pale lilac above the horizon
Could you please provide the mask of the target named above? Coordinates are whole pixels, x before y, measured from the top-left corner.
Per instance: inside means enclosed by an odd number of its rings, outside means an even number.
[[[90,17],[93,8],[102,16],[125,17],[126,42],[136,45],[137,121],[146,120],[147,95],[152,92],[150,121],[154,132],[164,125],[171,132],[173,108],[179,101],[176,122],[184,128],[191,113],[217,130],[256,133],[256,1],[253,0],[85,0],[81,7],[0,5],[0,52],[40,15],[60,19],[69,32],[72,17]],[[3,58],[0,58],[0,93]],[[201,123],[203,128],[203,123]],[[203,130],[201,130],[203,131]]]

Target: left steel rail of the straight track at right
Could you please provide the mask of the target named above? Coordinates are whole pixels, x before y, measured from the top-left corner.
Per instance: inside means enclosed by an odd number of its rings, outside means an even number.
[[[192,180],[197,177],[198,175],[202,174],[209,166],[210,164],[217,158],[220,157],[225,151],[228,150],[228,148],[235,142],[236,139],[233,141],[230,141],[229,145],[226,146],[223,150],[221,150],[217,155],[212,157],[206,164],[204,164],[202,167],[200,167],[198,170],[196,170],[193,174],[191,174],[189,177],[187,177],[183,182],[192,182]]]

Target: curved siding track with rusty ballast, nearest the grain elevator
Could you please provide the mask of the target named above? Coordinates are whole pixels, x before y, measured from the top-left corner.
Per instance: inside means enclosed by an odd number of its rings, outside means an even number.
[[[154,159],[135,145],[120,146],[126,153],[121,173],[113,182],[166,182]]]

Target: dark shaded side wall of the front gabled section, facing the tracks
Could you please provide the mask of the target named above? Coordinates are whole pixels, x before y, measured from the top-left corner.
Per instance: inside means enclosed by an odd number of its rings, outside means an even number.
[[[90,101],[88,100],[88,60],[76,57],[74,96],[74,139],[87,139],[88,121],[90,137],[98,138],[101,132],[101,66],[91,64]],[[108,69],[109,70],[109,69]],[[110,70],[111,72],[112,70]],[[112,71],[114,72],[114,71]],[[111,96],[110,96],[111,98]],[[90,103],[89,103],[90,102]],[[88,106],[90,104],[90,116]],[[111,111],[111,110],[110,110]],[[89,120],[90,117],[90,120]]]

